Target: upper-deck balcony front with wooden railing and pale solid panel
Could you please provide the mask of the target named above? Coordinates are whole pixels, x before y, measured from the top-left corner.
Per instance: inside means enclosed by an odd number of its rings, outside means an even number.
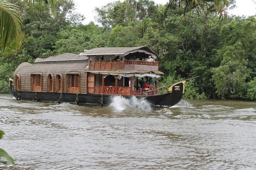
[[[89,70],[158,70],[159,62],[141,60],[90,61]]]

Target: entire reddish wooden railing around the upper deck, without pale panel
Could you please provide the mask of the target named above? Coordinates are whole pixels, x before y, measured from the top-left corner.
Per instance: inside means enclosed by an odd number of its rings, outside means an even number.
[[[124,65],[144,65],[158,66],[159,62],[149,62],[141,60],[125,60],[125,61],[90,61],[90,70],[123,70]]]

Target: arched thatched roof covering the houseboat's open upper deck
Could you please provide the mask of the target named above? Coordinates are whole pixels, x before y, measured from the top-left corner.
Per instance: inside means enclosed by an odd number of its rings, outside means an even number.
[[[133,55],[139,55],[142,57],[147,58],[149,55],[152,58],[157,58],[158,55],[153,52],[148,46],[139,46],[139,47],[101,47],[101,48],[94,48],[80,55],[85,56],[102,56],[102,55],[120,55],[123,57],[129,57]]]

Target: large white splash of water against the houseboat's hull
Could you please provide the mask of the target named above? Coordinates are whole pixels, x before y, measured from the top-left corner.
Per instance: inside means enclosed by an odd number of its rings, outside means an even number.
[[[114,96],[110,106],[119,111],[125,109],[152,110],[152,105],[148,101],[145,99],[138,99],[135,96],[130,99],[122,96]]]

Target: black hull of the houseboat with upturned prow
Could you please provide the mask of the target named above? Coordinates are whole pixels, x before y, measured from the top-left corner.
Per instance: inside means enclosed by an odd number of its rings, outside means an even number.
[[[183,96],[183,83],[177,83],[180,86],[179,91],[175,91],[174,87],[171,93],[159,95],[134,95],[138,99],[145,99],[152,105],[157,107],[171,107],[177,104]],[[70,102],[85,104],[110,104],[113,96],[111,94],[76,94],[76,93],[59,93],[59,92],[35,92],[35,91],[14,91],[12,82],[10,82],[11,93],[18,100],[32,101],[53,101],[53,102]],[[123,95],[127,99],[133,96]]]

